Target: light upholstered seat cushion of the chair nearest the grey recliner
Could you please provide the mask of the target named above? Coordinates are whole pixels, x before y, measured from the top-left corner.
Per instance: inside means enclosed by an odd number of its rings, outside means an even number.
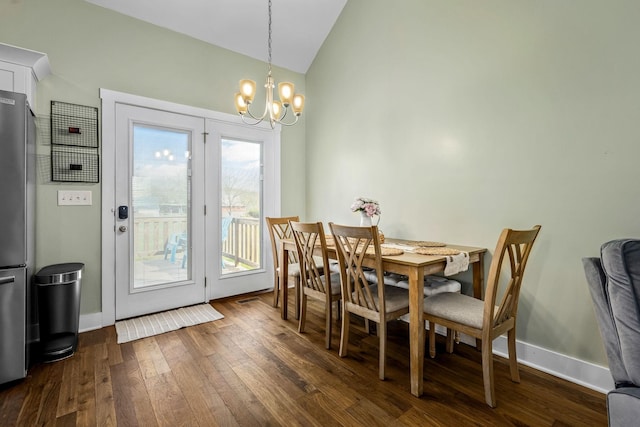
[[[472,328],[482,328],[484,301],[464,294],[446,292],[424,299],[424,312],[462,323]]]

